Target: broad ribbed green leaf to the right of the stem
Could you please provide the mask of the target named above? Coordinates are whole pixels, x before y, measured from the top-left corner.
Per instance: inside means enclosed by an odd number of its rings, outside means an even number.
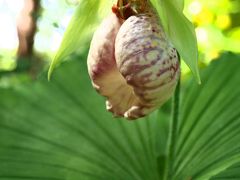
[[[201,76],[182,97],[174,179],[209,179],[240,162],[240,55],[223,55]]]

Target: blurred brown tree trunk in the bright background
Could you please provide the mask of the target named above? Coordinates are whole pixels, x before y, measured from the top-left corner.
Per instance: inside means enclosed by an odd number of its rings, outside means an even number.
[[[35,74],[39,57],[34,54],[34,36],[37,31],[37,18],[41,9],[40,0],[25,0],[24,8],[17,20],[19,46],[17,51],[17,71]]]

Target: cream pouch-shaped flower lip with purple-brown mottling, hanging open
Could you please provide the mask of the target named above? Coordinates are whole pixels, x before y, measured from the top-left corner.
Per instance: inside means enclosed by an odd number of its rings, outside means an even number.
[[[115,116],[137,119],[173,94],[179,61],[150,6],[126,20],[111,14],[95,32],[88,56],[93,86]]]

